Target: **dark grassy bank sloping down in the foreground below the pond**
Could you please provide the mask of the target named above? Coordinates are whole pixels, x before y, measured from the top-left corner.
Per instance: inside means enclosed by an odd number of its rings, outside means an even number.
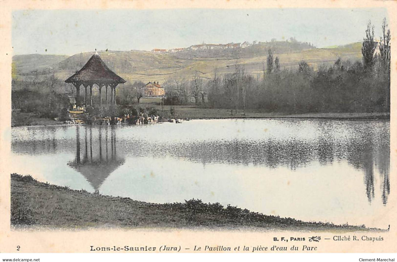
[[[191,199],[155,204],[102,196],[11,175],[11,224],[44,228],[191,228],[368,231],[364,226],[303,222]]]

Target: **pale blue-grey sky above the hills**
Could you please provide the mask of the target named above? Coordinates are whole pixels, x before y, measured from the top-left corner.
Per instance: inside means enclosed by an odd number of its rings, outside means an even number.
[[[316,47],[362,41],[369,20],[379,38],[384,8],[18,10],[14,55],[146,50],[295,37]]]

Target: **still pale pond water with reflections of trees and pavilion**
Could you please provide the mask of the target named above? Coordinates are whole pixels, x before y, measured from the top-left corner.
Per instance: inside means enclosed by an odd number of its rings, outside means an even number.
[[[12,160],[16,173],[73,189],[387,227],[389,139],[389,121],[20,127]]]

